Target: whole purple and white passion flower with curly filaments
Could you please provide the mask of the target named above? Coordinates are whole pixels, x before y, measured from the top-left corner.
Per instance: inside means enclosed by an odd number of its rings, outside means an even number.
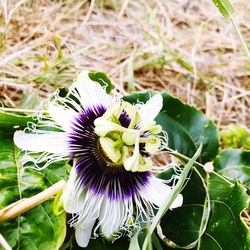
[[[154,121],[161,108],[160,94],[131,105],[82,72],[65,98],[56,94],[46,103],[37,124],[15,133],[15,144],[26,151],[23,163],[45,168],[73,160],[62,200],[80,246],[98,233],[129,234],[169,196],[171,187],[152,174],[152,156],[164,144]],[[181,204],[179,195],[172,208]]]

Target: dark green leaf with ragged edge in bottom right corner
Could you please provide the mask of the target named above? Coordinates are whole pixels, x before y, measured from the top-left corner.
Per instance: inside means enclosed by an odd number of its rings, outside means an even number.
[[[249,205],[246,188],[237,181],[230,185],[212,174],[208,189],[212,209],[200,249],[250,249],[250,231],[240,216]]]

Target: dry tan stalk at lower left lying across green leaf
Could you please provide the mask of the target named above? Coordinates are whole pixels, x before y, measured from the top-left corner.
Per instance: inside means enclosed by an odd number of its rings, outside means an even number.
[[[64,180],[58,181],[53,186],[36,194],[30,198],[24,198],[0,210],[0,222],[10,220],[16,216],[23,214],[32,208],[40,205],[44,201],[52,198],[58,192],[62,191],[66,182]]]

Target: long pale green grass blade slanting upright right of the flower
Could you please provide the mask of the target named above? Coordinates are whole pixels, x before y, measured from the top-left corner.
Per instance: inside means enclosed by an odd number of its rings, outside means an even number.
[[[199,146],[199,148],[197,149],[194,156],[188,161],[188,163],[186,164],[186,166],[184,167],[184,169],[183,169],[183,171],[182,171],[182,173],[180,175],[180,179],[177,182],[176,186],[171,190],[169,196],[163,202],[163,205],[159,208],[157,214],[155,215],[155,217],[154,217],[154,219],[152,221],[152,224],[149,227],[148,233],[147,233],[146,238],[145,238],[144,243],[143,243],[142,250],[147,249],[147,246],[148,246],[148,243],[150,241],[151,235],[153,234],[157,224],[159,223],[159,220],[166,213],[166,211],[170,208],[171,204],[174,202],[176,197],[181,192],[181,189],[182,189],[182,187],[183,187],[183,185],[185,183],[187,175],[188,175],[190,169],[192,168],[193,164],[195,163],[196,159],[199,157],[199,155],[201,153],[201,149],[202,149],[202,144]]]

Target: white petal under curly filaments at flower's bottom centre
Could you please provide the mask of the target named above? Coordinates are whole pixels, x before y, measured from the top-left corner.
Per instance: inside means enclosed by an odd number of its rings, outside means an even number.
[[[106,197],[100,210],[99,221],[103,234],[110,238],[127,219],[126,201],[110,200]]]

